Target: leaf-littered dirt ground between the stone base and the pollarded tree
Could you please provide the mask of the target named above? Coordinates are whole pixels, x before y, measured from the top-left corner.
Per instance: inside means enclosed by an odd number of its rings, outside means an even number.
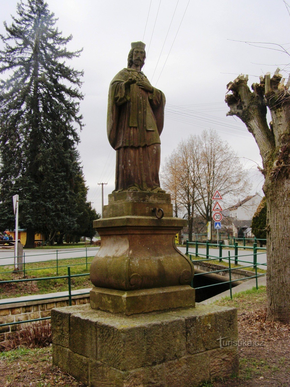
[[[289,387],[290,325],[267,321],[266,289],[217,304],[238,308],[240,370],[237,377],[215,381],[212,386]]]

